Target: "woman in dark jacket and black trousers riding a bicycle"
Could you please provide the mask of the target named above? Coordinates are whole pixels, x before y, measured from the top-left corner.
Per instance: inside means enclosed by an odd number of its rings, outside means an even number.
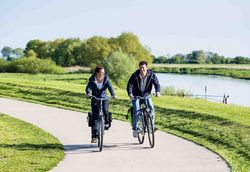
[[[103,66],[97,66],[95,68],[95,73],[89,78],[89,82],[86,87],[87,97],[91,97],[92,95],[98,98],[108,98],[106,90],[109,90],[111,97],[115,97],[114,89],[110,83],[110,79],[107,75],[105,75],[105,70]],[[97,130],[96,123],[98,119],[98,101],[96,99],[91,99],[91,109],[93,114],[93,122],[94,124],[91,127],[91,143],[96,143],[97,138]],[[110,116],[108,112],[108,100],[103,100],[103,114],[105,118],[105,129],[108,129],[111,126]]]

